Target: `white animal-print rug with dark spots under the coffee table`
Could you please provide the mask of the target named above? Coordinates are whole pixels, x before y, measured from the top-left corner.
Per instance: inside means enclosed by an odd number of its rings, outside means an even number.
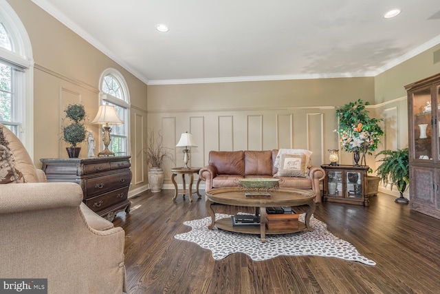
[[[217,213],[216,220],[230,218],[230,215]],[[300,215],[300,221],[304,222],[305,213]],[[367,265],[375,265],[360,255],[358,250],[347,241],[336,238],[327,231],[327,224],[316,220],[311,216],[310,223],[314,227],[313,232],[303,231],[283,235],[266,235],[266,242],[262,243],[259,235],[233,233],[221,229],[208,229],[211,218],[190,220],[184,222],[192,227],[188,233],[174,236],[178,240],[194,242],[204,249],[212,251],[214,260],[221,260],[232,253],[245,253],[252,260],[268,260],[279,255],[318,255],[332,258],[342,258],[354,262],[362,262]]]

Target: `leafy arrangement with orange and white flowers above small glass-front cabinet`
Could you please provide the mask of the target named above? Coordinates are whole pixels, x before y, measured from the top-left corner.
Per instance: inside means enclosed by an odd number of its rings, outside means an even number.
[[[338,132],[342,149],[349,152],[358,151],[362,154],[372,154],[384,134],[379,123],[382,118],[370,118],[365,105],[369,102],[359,99],[336,110],[339,120]]]

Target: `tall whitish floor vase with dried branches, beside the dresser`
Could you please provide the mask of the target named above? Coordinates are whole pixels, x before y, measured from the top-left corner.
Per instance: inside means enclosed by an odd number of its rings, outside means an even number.
[[[160,132],[155,135],[154,129],[147,134],[146,146],[144,147],[145,159],[151,168],[148,169],[148,183],[152,192],[162,191],[164,183],[164,170],[162,164],[165,158],[174,162],[173,154],[166,147],[163,147],[163,138]]]

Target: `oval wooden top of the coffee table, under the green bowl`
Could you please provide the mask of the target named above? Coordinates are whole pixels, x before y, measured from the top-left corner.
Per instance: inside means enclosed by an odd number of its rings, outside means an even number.
[[[206,198],[214,203],[245,207],[300,206],[314,201],[316,194],[303,189],[278,189],[270,191],[270,196],[246,196],[241,187],[211,189]]]

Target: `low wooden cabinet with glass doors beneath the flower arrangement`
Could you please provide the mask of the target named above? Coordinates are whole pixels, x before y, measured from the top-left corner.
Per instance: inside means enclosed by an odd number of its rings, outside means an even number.
[[[367,191],[368,166],[321,165],[325,171],[323,201],[369,206]]]

